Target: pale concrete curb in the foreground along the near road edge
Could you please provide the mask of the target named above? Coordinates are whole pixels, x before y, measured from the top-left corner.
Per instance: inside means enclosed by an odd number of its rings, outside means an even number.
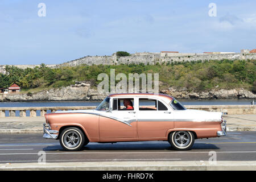
[[[80,162],[80,163],[16,163],[0,164],[0,171],[256,171],[256,162]]]

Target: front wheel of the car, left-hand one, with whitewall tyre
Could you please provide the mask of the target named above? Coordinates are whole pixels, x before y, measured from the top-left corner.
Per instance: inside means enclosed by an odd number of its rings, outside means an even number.
[[[67,151],[78,151],[87,144],[84,133],[76,127],[68,127],[60,134],[60,145]]]

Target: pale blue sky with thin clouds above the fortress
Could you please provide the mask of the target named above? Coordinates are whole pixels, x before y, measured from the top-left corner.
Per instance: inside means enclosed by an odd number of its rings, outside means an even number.
[[[0,65],[60,64],[117,51],[254,49],[255,7],[255,0],[1,0]]]

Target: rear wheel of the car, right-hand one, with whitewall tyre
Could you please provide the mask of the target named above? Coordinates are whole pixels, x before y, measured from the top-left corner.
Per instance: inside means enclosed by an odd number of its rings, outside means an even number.
[[[174,131],[169,136],[169,143],[176,150],[189,150],[195,142],[191,131]]]

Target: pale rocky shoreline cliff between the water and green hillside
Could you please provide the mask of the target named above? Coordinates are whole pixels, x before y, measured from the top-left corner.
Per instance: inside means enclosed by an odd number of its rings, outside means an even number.
[[[168,88],[159,90],[175,98],[185,99],[255,99],[256,94],[245,89],[210,90],[210,92],[189,92],[187,88]],[[32,94],[0,94],[0,101],[101,101],[106,94],[100,94],[97,89],[86,82],[76,82],[75,85],[50,89]]]

